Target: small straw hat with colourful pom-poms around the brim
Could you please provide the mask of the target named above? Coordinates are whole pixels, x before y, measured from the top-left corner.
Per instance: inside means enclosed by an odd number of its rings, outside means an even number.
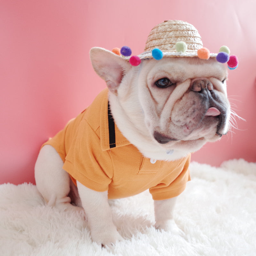
[[[115,49],[115,51],[114,51]],[[228,62],[230,69],[235,69],[238,60],[235,55],[229,56],[227,46],[220,47],[219,53],[211,53],[203,47],[201,36],[197,29],[186,21],[166,20],[156,25],[148,35],[144,52],[138,56],[131,56],[131,49],[123,46],[120,53],[125,59],[129,60],[132,66],[138,66],[143,59],[154,58],[161,60],[163,57],[198,57],[208,60],[216,58],[221,63]]]

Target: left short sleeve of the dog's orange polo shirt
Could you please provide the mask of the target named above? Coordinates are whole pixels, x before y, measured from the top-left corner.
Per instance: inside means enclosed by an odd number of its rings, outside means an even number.
[[[108,151],[102,151],[100,138],[82,120],[68,150],[63,169],[87,188],[106,191],[113,178]]]

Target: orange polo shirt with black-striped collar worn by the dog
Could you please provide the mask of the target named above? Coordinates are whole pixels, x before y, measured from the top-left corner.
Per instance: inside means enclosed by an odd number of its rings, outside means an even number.
[[[108,89],[45,144],[52,145],[67,171],[87,188],[108,190],[108,198],[133,196],[149,188],[154,200],[178,196],[190,180],[190,155],[179,160],[150,162],[114,125],[109,142]],[[45,145],[44,144],[44,145]]]

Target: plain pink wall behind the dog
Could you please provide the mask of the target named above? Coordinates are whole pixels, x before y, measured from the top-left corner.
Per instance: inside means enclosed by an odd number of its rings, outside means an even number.
[[[255,162],[255,10],[254,0],[0,1],[0,184],[34,183],[41,144],[105,88],[91,67],[91,47],[129,45],[139,54],[151,28],[171,19],[192,23],[210,51],[228,45],[239,58],[228,95],[246,122],[236,118],[239,130],[192,160]]]

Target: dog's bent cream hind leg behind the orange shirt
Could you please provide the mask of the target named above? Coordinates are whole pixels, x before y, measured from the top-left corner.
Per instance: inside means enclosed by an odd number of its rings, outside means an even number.
[[[57,151],[45,145],[39,152],[35,165],[36,187],[44,197],[47,205],[60,210],[72,209],[81,211],[80,207],[70,204],[70,178],[62,169],[63,161]]]

